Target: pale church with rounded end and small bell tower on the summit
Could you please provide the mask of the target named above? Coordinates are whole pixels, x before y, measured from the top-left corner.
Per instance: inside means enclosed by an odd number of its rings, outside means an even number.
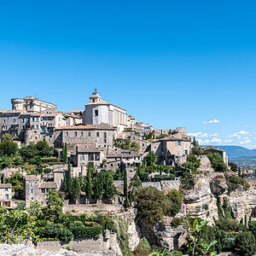
[[[128,123],[125,109],[102,101],[96,90],[90,96],[90,102],[85,104],[83,118],[84,125],[108,124],[117,127],[119,131],[123,131]]]

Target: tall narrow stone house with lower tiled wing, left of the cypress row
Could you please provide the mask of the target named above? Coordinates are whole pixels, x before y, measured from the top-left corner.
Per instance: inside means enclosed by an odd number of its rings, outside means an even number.
[[[30,206],[32,201],[39,201],[46,205],[49,190],[58,190],[55,182],[44,182],[40,176],[26,175],[25,177],[25,205]]]

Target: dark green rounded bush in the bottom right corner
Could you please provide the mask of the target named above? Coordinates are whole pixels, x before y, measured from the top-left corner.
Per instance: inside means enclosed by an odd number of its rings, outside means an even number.
[[[238,255],[251,256],[255,252],[255,237],[252,232],[245,231],[236,236],[236,253]]]

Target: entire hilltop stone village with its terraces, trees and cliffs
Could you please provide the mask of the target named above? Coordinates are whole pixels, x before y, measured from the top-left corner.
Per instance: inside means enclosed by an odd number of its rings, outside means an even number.
[[[255,253],[254,179],[224,150],[201,147],[185,127],[137,122],[96,90],[69,113],[32,96],[11,104],[0,111],[1,243],[88,255]]]

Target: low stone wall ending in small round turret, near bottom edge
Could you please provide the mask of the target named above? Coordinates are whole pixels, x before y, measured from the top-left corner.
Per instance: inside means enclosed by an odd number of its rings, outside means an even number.
[[[50,252],[58,251],[61,248],[70,247],[72,251],[78,253],[101,253],[112,250],[111,255],[117,255],[117,239],[116,234],[105,230],[104,236],[100,235],[98,239],[95,238],[76,238],[69,242],[62,241],[41,241],[37,244],[37,249],[47,250]]]

